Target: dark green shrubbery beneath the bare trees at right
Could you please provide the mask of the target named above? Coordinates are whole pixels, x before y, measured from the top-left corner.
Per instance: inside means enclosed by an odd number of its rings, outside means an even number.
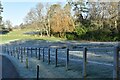
[[[79,35],[78,39],[89,41],[120,41],[120,36],[119,34],[112,34],[112,31],[100,29]]]

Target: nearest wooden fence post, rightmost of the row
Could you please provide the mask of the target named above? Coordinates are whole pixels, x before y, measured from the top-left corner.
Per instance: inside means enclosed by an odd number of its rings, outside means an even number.
[[[119,80],[119,49],[114,47],[113,78]]]

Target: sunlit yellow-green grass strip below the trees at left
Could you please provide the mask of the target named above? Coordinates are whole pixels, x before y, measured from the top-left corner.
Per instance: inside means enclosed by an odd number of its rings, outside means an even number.
[[[0,44],[9,43],[10,41],[16,40],[27,40],[27,39],[35,39],[35,40],[49,40],[49,41],[62,41],[65,39],[55,38],[55,37],[46,37],[46,36],[37,36],[37,35],[26,35],[23,34],[25,32],[30,32],[32,30],[13,30],[8,34],[0,35]]]

